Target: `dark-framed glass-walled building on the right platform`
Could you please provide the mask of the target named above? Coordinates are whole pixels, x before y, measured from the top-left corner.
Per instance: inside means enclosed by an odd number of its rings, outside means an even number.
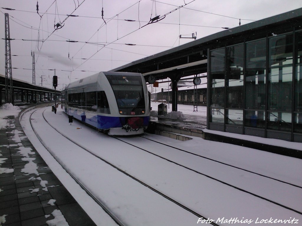
[[[302,30],[208,50],[210,130],[302,142]]]

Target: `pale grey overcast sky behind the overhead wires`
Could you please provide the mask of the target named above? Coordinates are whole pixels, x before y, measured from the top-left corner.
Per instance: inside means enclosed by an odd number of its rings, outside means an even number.
[[[58,89],[62,89],[75,79],[194,41],[179,35],[191,37],[197,32],[199,39],[222,31],[221,27],[237,27],[239,19],[243,25],[302,7],[301,0],[191,1],[40,0],[37,14],[36,0],[0,0],[1,7],[15,9],[0,9],[1,38],[5,37],[4,13],[8,13],[10,38],[15,39],[11,55],[17,56],[11,56],[11,63],[18,69],[12,69],[12,76],[32,82],[31,52],[35,52],[36,84],[42,76],[43,86],[52,87],[51,70],[56,69]],[[67,16],[71,14],[78,17]],[[161,21],[148,24],[150,17],[165,14]],[[55,30],[57,23],[63,27]],[[5,41],[1,40],[0,74],[5,75]]]

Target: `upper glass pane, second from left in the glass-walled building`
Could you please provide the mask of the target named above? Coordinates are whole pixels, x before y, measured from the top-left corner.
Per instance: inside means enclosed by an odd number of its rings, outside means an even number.
[[[243,45],[226,48],[226,107],[243,108]]]

